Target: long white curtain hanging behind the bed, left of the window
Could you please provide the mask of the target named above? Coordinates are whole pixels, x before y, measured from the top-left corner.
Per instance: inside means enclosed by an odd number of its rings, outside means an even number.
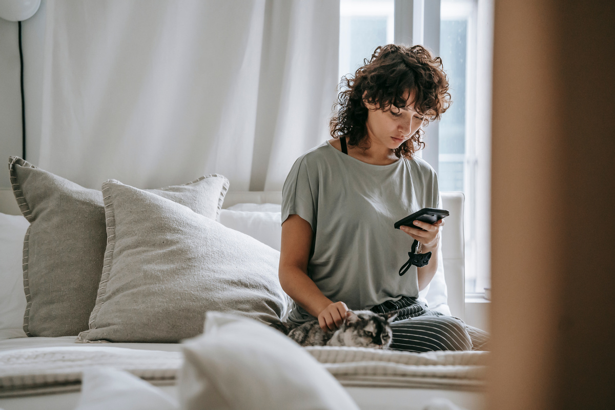
[[[331,0],[49,0],[28,159],[92,188],[280,190],[327,138],[338,33]]]

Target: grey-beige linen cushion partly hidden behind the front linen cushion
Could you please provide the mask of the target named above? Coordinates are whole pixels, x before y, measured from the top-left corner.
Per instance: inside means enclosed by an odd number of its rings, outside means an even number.
[[[74,336],[88,328],[106,247],[103,195],[19,157],[9,159],[15,198],[30,227],[23,242],[28,336]],[[215,219],[228,179],[208,175],[153,190]]]

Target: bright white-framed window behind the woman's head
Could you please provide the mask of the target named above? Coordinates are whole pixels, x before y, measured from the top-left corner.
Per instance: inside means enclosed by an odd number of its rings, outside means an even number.
[[[438,4],[439,15],[433,11],[438,9]],[[483,146],[490,138],[490,112],[486,112],[490,105],[490,77],[485,77],[491,72],[488,65],[491,49],[488,48],[493,34],[484,28],[481,31],[482,26],[490,25],[490,7],[490,1],[482,0],[429,0],[429,3],[398,0],[398,4],[394,0],[340,2],[340,78],[354,74],[378,45],[394,42],[399,33],[406,34],[405,39],[418,39],[427,47],[432,44],[429,48],[442,57],[453,104],[437,127],[431,130],[427,127],[426,132],[437,134],[437,143],[432,144],[437,152],[429,153],[426,149],[423,158],[437,170],[441,191],[462,191],[466,197],[466,293],[483,293],[490,283],[490,218],[485,216],[488,215],[490,147]],[[489,10],[485,12],[485,9]],[[480,14],[482,20],[479,20]],[[395,22],[400,23],[399,30]],[[436,26],[440,30],[434,34]],[[477,41],[480,34],[488,38]],[[477,47],[479,43],[488,50]],[[482,82],[477,81],[480,75],[477,73],[483,73]],[[481,109],[477,110],[477,106]]]

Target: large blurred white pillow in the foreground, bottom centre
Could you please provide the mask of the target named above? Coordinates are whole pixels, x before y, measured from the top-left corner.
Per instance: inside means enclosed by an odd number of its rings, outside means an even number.
[[[208,312],[184,346],[178,391],[185,410],[359,408],[306,350],[262,323]]]

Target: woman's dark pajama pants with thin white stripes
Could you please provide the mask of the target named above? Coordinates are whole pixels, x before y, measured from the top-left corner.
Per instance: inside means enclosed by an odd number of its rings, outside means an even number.
[[[432,350],[488,350],[489,334],[463,320],[429,310],[416,298],[403,297],[371,308],[375,313],[399,310],[391,323],[390,349],[407,352]]]

